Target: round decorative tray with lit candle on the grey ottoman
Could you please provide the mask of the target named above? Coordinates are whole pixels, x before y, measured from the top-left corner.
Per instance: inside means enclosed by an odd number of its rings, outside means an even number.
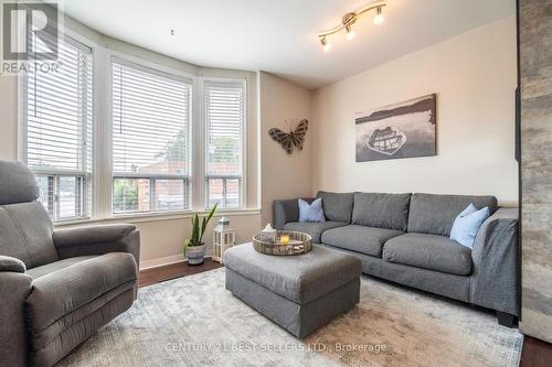
[[[275,256],[301,255],[312,249],[312,238],[304,233],[294,230],[276,231],[276,239],[263,239],[262,233],[253,236],[253,248],[257,252]]]

